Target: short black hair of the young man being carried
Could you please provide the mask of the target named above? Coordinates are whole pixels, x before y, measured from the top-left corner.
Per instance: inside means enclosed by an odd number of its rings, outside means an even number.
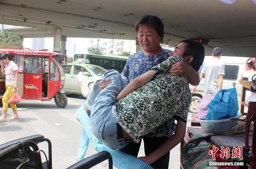
[[[186,43],[183,57],[192,55],[193,61],[191,66],[198,72],[204,62],[204,46],[195,40],[182,40],[180,43]]]

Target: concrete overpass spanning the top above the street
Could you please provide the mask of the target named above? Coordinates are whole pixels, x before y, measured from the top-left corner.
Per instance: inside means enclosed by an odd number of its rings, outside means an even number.
[[[206,54],[221,47],[224,55],[256,54],[255,0],[0,0],[0,23],[32,27],[23,37],[99,37],[136,40],[134,23],[156,14],[165,25],[164,43],[209,39]],[[32,33],[36,32],[36,33]],[[41,35],[41,36],[40,36]],[[57,44],[58,43],[58,44]]]

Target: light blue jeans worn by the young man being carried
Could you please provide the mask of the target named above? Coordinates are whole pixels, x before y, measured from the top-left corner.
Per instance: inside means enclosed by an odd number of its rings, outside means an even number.
[[[102,78],[111,79],[112,83],[99,92],[99,81]],[[92,132],[106,146],[121,149],[131,140],[124,140],[123,137],[117,138],[117,122],[112,113],[112,106],[115,104],[117,95],[129,81],[116,70],[109,70],[102,75],[102,78],[95,82],[86,100],[86,106],[91,111]]]

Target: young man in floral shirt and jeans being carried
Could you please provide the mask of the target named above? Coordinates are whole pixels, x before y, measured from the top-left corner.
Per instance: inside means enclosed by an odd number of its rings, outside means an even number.
[[[91,110],[93,134],[102,143],[120,149],[132,140],[139,142],[143,135],[171,117],[177,119],[175,133],[178,134],[168,140],[168,151],[183,139],[191,92],[187,77],[171,76],[168,69],[183,61],[198,71],[204,60],[204,47],[195,41],[185,40],[177,46],[177,50],[183,50],[186,55],[183,58],[169,57],[129,84],[126,77],[114,70],[102,76],[111,79],[112,83],[101,92],[97,84],[100,80],[96,81],[87,99],[86,109],[87,112]],[[166,151],[157,149],[153,161],[164,154]],[[146,158],[141,159],[147,162]]]

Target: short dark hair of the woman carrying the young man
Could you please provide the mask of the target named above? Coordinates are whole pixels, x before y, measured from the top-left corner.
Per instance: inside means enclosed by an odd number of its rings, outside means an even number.
[[[137,23],[135,24],[135,30],[138,33],[138,30],[140,28],[140,26],[146,25],[150,28],[153,28],[157,31],[157,34],[160,36],[161,38],[161,43],[163,42],[163,36],[164,36],[164,31],[163,31],[163,22],[160,20],[159,17],[157,17],[156,15],[144,15],[142,18],[140,18],[140,20],[137,21]]]

